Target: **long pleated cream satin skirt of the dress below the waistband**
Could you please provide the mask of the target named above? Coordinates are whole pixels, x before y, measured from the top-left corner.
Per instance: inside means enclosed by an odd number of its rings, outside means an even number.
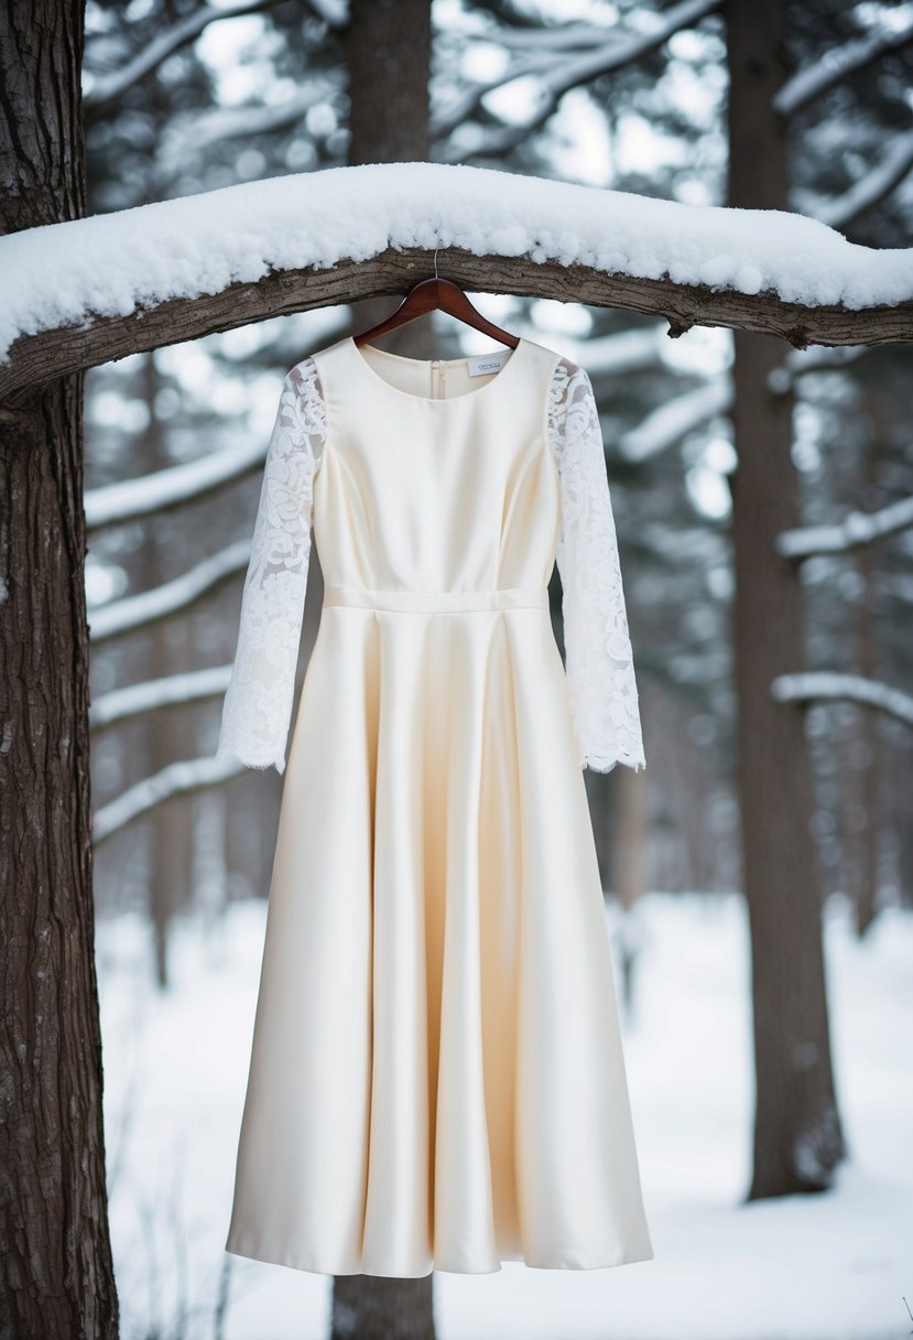
[[[653,1256],[544,586],[325,588],[226,1249],[395,1277]]]

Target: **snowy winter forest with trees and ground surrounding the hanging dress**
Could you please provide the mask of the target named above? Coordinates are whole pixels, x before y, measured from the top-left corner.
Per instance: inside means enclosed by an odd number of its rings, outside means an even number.
[[[912,75],[889,0],[0,7],[1,1340],[913,1333]],[[268,441],[435,275],[598,405],[647,757],[582,772],[655,1252],[617,1269],[225,1250]],[[323,588],[315,545],[296,704]]]

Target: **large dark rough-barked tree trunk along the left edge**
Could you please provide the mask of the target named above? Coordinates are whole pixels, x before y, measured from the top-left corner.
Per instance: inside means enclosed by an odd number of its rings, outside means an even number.
[[[0,230],[84,213],[78,0],[0,7]],[[94,959],[83,375],[0,407],[0,1335],[114,1337]]]

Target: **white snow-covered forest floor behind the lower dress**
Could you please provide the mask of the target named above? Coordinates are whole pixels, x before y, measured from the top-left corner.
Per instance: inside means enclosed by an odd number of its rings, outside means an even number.
[[[104,1108],[122,1337],[323,1340],[331,1278],[224,1250],[265,903],[175,929],[151,984],[138,919],[99,921]],[[614,927],[612,910],[609,926]],[[900,1340],[913,1331],[913,918],[866,943],[826,917],[835,1190],[743,1205],[751,1152],[746,915],[651,895],[625,1048],[653,1261],[435,1274],[440,1340]],[[618,961],[616,958],[616,972]],[[620,982],[620,978],[617,978]],[[217,1320],[221,1317],[221,1323]]]

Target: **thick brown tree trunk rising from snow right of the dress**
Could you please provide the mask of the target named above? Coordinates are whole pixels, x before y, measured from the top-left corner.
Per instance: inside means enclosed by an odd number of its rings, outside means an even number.
[[[730,198],[786,209],[786,0],[728,5]],[[803,714],[775,704],[775,675],[805,666],[802,587],[774,540],[799,524],[793,403],[768,374],[780,343],[735,334],[732,540],[743,880],[751,925],[756,1107],[748,1198],[821,1190],[845,1155],[830,1059],[822,883],[811,831]]]

